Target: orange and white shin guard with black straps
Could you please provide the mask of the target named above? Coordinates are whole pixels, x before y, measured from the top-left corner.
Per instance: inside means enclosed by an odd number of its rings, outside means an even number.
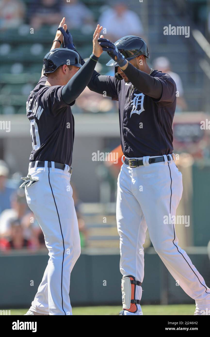
[[[132,313],[137,312],[137,304],[140,304],[140,300],[136,300],[135,298],[137,285],[141,286],[142,282],[136,281],[134,276],[123,276],[121,283],[123,310],[127,310]]]

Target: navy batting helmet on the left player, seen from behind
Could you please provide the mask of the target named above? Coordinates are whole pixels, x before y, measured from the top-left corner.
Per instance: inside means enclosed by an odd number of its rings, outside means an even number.
[[[43,74],[54,72],[60,65],[75,65],[81,68],[80,57],[77,52],[66,48],[56,48],[51,50],[43,59]]]

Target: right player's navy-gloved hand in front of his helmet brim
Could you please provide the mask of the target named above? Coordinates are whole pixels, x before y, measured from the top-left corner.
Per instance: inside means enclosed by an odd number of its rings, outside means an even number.
[[[115,46],[115,44],[113,42],[111,42],[110,40],[101,38],[101,37],[98,39],[98,42],[99,42],[102,50],[104,52],[107,52],[109,54],[109,56],[111,56],[111,58],[115,62],[117,62],[117,64],[120,67],[123,67],[124,65],[126,65],[127,61],[126,61],[124,55],[122,55],[119,52],[119,50],[117,49],[117,47]]]

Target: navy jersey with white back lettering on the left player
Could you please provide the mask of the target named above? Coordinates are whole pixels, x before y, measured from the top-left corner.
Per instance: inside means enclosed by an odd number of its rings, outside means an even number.
[[[55,161],[71,165],[74,118],[70,105],[61,96],[63,86],[46,86],[42,76],[26,102],[30,121],[32,152],[30,161]]]

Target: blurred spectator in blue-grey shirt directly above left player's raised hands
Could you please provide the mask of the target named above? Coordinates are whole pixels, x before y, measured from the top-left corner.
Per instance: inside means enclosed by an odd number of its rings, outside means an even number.
[[[78,0],[67,2],[63,0],[62,15],[65,16],[67,28],[79,28],[84,33],[92,32],[93,29],[93,14],[84,3]]]

